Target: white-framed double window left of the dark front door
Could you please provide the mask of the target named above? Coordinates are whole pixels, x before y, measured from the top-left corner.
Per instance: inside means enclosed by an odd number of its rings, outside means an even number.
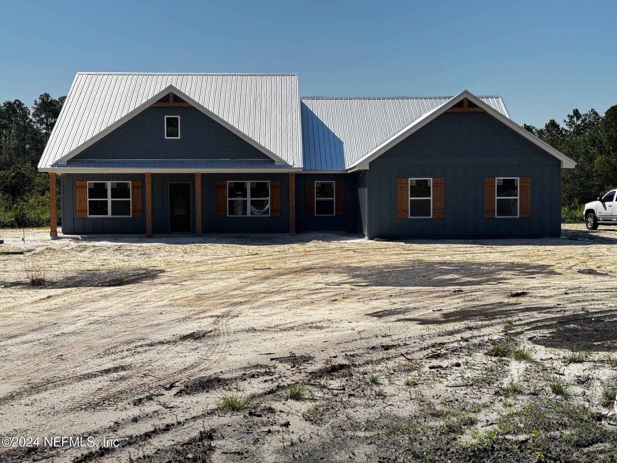
[[[88,217],[131,217],[131,182],[89,181]]]

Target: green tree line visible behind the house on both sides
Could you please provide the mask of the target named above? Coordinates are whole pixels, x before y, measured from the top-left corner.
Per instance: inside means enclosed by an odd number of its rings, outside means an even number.
[[[36,165],[65,99],[43,93],[31,111],[18,99],[0,107],[0,227],[49,224],[49,177]],[[563,220],[581,222],[585,202],[617,187],[617,105],[604,115],[575,108],[563,126],[551,119],[542,128],[523,128],[578,163],[563,170]],[[59,182],[57,188],[59,203]]]

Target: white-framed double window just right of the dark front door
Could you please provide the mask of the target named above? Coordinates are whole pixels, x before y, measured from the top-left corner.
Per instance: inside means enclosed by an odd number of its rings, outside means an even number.
[[[227,215],[270,215],[270,181],[228,181]]]

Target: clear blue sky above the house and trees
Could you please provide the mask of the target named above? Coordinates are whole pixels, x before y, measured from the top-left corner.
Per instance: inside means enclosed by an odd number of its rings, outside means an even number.
[[[78,71],[294,72],[302,96],[503,97],[518,123],[617,104],[617,2],[3,2],[0,101]]]

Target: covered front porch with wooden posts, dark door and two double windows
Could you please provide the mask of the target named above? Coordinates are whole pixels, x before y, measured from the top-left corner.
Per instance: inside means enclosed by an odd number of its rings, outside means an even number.
[[[295,172],[49,172],[52,238],[57,181],[67,235],[296,233]]]

